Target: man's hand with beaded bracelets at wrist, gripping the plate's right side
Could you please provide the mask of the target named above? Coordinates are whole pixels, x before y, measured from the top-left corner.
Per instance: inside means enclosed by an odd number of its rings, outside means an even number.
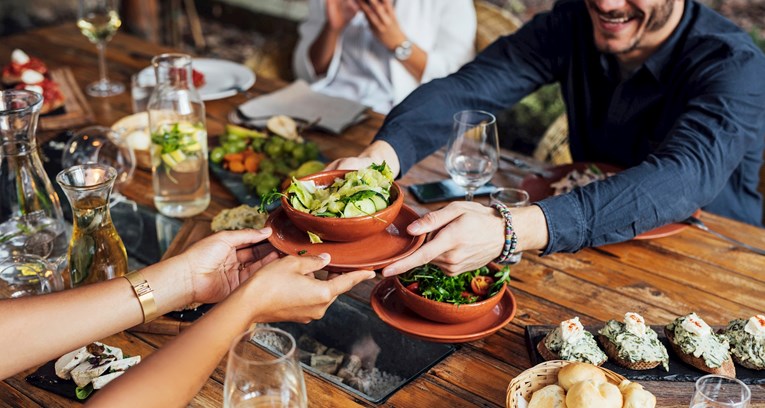
[[[428,262],[449,276],[480,268],[502,252],[505,223],[493,208],[459,201],[425,214],[409,224],[407,232],[434,235],[412,255],[383,269],[384,276],[404,273]]]

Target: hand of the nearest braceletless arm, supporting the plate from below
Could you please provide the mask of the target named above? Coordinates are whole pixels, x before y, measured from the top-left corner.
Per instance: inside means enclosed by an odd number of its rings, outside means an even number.
[[[359,270],[317,279],[314,272],[329,260],[329,254],[287,256],[254,271],[242,288],[251,300],[253,318],[259,323],[321,319],[338,295],[375,277],[373,271]]]

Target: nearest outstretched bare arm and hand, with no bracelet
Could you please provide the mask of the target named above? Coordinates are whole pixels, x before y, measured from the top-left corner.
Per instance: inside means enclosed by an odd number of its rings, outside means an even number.
[[[260,268],[192,327],[94,395],[89,404],[108,407],[186,404],[199,392],[232,340],[251,322],[320,319],[338,295],[374,277],[372,271],[356,271],[328,281],[314,278],[313,271],[328,262],[327,254],[286,257]],[[168,378],[172,379],[172,386],[153,386]],[[152,391],[146,392],[148,389]]]

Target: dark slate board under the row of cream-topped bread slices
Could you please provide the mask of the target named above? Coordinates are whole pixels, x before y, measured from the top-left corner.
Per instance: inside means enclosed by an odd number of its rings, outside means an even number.
[[[547,335],[550,330],[553,330],[557,325],[529,325],[526,326],[526,348],[529,352],[529,358],[532,365],[537,365],[545,361],[539,351],[537,351],[537,344]],[[584,326],[585,330],[589,331],[593,335],[597,336],[598,330],[603,326]],[[659,335],[659,340],[667,348],[669,354],[669,372],[664,371],[664,368],[659,365],[656,368],[650,370],[630,370],[620,365],[614,364],[611,361],[603,363],[603,367],[611,371],[619,373],[624,377],[635,381],[685,381],[695,382],[699,377],[706,375],[707,373],[697,370],[688,364],[685,364],[680,358],[672,351],[667,337],[664,335],[664,326],[657,325],[651,326],[653,330]],[[717,331],[722,329],[722,326],[712,326],[712,329]],[[765,384],[765,370],[751,370],[736,364],[736,378],[743,381],[746,384]]]

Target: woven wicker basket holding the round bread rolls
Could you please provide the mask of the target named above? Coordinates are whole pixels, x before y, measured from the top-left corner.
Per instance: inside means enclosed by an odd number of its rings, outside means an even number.
[[[507,386],[507,408],[516,408],[520,397],[529,401],[534,391],[550,384],[557,384],[558,371],[570,363],[565,360],[545,361],[518,374]],[[622,380],[625,380],[624,377],[611,370],[603,367],[598,368],[606,375],[608,382],[614,385],[619,385]]]

